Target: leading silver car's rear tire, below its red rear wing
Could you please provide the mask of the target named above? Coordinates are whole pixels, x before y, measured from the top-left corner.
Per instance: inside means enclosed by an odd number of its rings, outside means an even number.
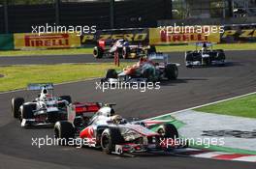
[[[68,141],[75,137],[75,128],[67,121],[59,121],[54,125],[54,137],[60,146],[68,145]]]

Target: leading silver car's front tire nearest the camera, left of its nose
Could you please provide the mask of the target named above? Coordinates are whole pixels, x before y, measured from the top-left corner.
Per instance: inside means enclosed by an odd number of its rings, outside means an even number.
[[[115,151],[115,145],[124,143],[119,128],[106,128],[101,135],[101,147],[104,153],[111,155]]]

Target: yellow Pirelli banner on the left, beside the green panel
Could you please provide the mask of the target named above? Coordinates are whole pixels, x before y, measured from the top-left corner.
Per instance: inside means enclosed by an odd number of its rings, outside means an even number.
[[[80,37],[74,34],[14,34],[15,49],[47,49],[80,47]]]

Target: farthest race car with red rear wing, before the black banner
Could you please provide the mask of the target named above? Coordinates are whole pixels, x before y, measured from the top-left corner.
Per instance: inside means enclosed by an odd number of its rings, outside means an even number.
[[[144,54],[156,52],[155,46],[148,45],[131,45],[128,41],[120,40],[100,40],[93,48],[93,56],[102,58],[103,56],[114,57],[114,52],[117,52],[119,58],[134,59],[139,58]]]

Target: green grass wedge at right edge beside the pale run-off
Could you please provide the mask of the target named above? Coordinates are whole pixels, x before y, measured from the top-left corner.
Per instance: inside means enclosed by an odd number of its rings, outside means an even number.
[[[256,118],[256,94],[196,108],[195,110],[207,113]]]

